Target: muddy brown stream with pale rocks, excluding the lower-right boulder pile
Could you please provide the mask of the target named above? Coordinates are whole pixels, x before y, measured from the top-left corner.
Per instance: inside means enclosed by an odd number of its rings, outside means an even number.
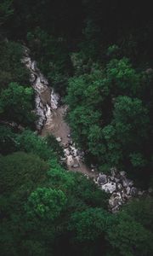
[[[71,139],[71,129],[65,122],[67,106],[59,106],[59,95],[48,86],[45,79],[37,68],[36,61],[32,61],[29,49],[25,48],[25,63],[31,74],[31,85],[35,90],[35,105],[37,119],[37,131],[42,137],[49,134],[57,138],[64,148],[65,162],[72,172],[82,172],[87,177],[97,177],[94,169],[90,169],[83,163],[83,152],[77,150]],[[92,172],[92,171],[93,172]]]

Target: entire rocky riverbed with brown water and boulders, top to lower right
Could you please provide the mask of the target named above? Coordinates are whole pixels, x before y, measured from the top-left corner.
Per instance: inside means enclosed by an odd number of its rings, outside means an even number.
[[[44,78],[37,68],[36,61],[31,60],[30,50],[25,47],[25,56],[22,59],[31,74],[31,86],[35,90],[35,106],[37,119],[37,131],[42,137],[48,134],[54,135],[63,147],[65,161],[72,172],[82,172],[87,178],[93,178],[100,189],[111,195],[109,209],[117,212],[120,206],[132,197],[144,195],[146,192],[134,187],[133,181],[127,178],[126,172],[118,172],[111,169],[111,175],[96,172],[94,166],[84,164],[84,153],[76,148],[71,138],[71,129],[65,122],[67,106],[59,106],[59,95],[48,86],[48,80]],[[79,188],[78,188],[79,189]]]

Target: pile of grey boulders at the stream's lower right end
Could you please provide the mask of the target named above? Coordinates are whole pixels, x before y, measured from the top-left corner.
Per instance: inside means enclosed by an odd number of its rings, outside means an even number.
[[[118,172],[116,168],[111,169],[111,175],[99,174],[96,183],[106,193],[110,193],[109,208],[111,212],[117,212],[123,203],[132,197],[145,194],[134,187],[133,181],[127,178],[126,172]]]

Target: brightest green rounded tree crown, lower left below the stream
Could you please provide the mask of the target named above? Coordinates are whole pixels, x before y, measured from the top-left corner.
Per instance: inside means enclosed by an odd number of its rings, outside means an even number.
[[[31,218],[54,220],[66,204],[65,194],[61,190],[37,188],[28,198],[26,211]]]

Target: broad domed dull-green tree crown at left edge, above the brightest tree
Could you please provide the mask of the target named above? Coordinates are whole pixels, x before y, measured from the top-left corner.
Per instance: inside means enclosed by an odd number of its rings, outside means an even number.
[[[32,188],[44,179],[48,165],[35,154],[16,152],[0,157],[1,193],[11,195],[15,191]]]

